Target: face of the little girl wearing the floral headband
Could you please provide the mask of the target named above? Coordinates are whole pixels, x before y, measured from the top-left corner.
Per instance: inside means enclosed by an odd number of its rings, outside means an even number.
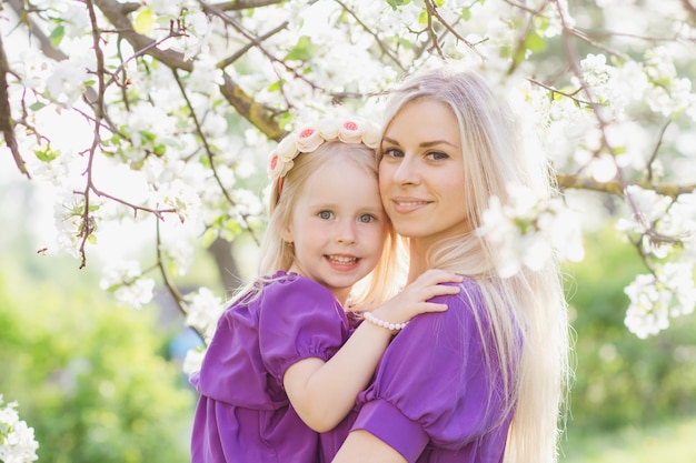
[[[290,271],[345,303],[352,285],[377,265],[387,220],[372,173],[351,162],[322,165],[304,185],[282,236],[295,245]]]

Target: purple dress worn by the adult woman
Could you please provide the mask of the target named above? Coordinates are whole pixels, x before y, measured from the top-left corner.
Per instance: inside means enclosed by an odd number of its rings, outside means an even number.
[[[461,285],[459,294],[432,300],[447,303],[446,312],[414,318],[394,339],[375,382],[357,400],[351,429],[370,432],[409,463],[503,462],[511,413],[503,410],[499,370],[490,374],[485,365],[475,311],[483,315],[485,342],[490,350],[494,344],[480,291],[473,280]],[[491,386],[498,393],[489,395]]]

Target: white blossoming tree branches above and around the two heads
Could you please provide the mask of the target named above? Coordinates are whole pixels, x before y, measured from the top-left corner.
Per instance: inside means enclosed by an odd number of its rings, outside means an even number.
[[[151,251],[109,262],[102,286],[138,308],[158,279],[207,340],[226,294],[182,294],[176,279],[203,246],[236,285],[229,243],[262,232],[268,153],[286,131],[379,120],[401,76],[475,68],[528,112],[563,193],[490,204],[480,232],[507,250],[500,272],[581,260],[579,213],[613,220],[645,264],[625,318],[645,338],[696,303],[696,4],[575,3],[7,0],[0,154],[54,191],[47,252],[84,266],[105,230],[148,227]]]

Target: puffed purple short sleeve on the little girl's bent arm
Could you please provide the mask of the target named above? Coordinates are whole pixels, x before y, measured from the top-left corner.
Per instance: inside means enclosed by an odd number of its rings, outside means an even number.
[[[314,280],[295,275],[274,282],[261,298],[259,348],[266,368],[280,384],[290,365],[307,358],[327,361],[348,339],[344,309]]]

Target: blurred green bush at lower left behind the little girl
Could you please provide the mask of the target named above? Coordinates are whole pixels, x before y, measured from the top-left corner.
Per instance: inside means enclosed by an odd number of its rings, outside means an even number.
[[[0,272],[0,393],[34,429],[39,461],[188,462],[195,395],[155,311],[18,269]]]

